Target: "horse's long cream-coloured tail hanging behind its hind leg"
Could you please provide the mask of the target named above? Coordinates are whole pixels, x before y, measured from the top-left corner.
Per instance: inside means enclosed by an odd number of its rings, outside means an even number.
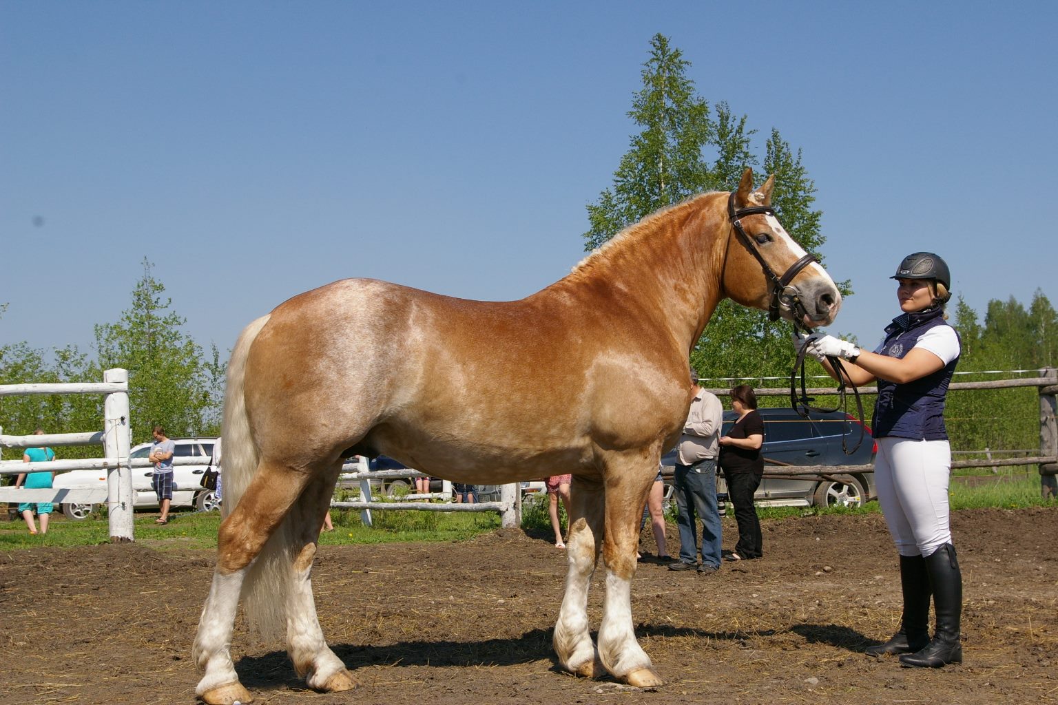
[[[224,393],[223,516],[238,505],[257,471],[259,453],[250,420],[247,415],[244,382],[247,356],[269,316],[261,316],[243,329],[227,364],[227,387]],[[286,595],[289,592],[290,532],[287,521],[275,533],[250,564],[242,582],[242,606],[248,621],[262,637],[274,639],[286,633]]]

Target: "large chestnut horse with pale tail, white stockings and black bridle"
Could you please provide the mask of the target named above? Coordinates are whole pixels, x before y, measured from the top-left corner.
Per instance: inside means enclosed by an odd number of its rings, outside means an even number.
[[[771,212],[772,183],[753,190],[747,169],[734,193],[647,217],[521,301],[347,279],[248,326],[227,370],[226,517],[195,641],[196,693],[251,700],[229,653],[240,593],[263,635],[286,628],[311,688],[358,685],[324,639],[310,572],[343,458],[378,453],[467,483],[571,472],[559,664],[660,685],[633,631],[631,583],[639,514],[693,397],[689,352],[724,296],[808,327],[829,323],[841,301]],[[587,590],[600,551],[597,647]]]

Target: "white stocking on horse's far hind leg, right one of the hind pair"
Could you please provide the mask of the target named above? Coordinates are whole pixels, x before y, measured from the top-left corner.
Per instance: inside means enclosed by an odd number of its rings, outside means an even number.
[[[359,682],[342,660],[327,646],[312,597],[312,559],[315,544],[302,549],[291,565],[291,589],[287,595],[287,652],[297,674],[310,688],[325,691],[349,690]]]

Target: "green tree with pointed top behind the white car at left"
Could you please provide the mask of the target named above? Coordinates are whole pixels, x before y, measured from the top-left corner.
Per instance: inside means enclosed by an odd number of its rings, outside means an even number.
[[[144,258],[143,277],[132,292],[132,305],[115,323],[95,327],[96,370],[129,371],[129,407],[133,443],[149,439],[160,424],[170,437],[204,435],[219,428],[217,388],[224,366],[216,348],[203,360],[202,349],[181,328],[186,322],[170,311],[165,286]]]

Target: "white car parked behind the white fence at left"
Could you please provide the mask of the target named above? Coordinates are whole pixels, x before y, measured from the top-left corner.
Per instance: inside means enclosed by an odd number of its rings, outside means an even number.
[[[216,439],[172,439],[176,444],[174,458],[201,458],[201,464],[172,466],[172,508],[195,507],[202,512],[220,508],[216,493],[202,487],[202,474],[209,465],[213,444]],[[132,460],[146,460],[150,454],[150,443],[134,446],[129,453]],[[158,507],[158,498],[150,488],[149,467],[132,468],[132,503],[138,509]],[[54,487],[96,488],[107,486],[107,470],[70,470],[55,476]],[[85,519],[96,506],[94,504],[62,504],[62,514],[70,519]]]

